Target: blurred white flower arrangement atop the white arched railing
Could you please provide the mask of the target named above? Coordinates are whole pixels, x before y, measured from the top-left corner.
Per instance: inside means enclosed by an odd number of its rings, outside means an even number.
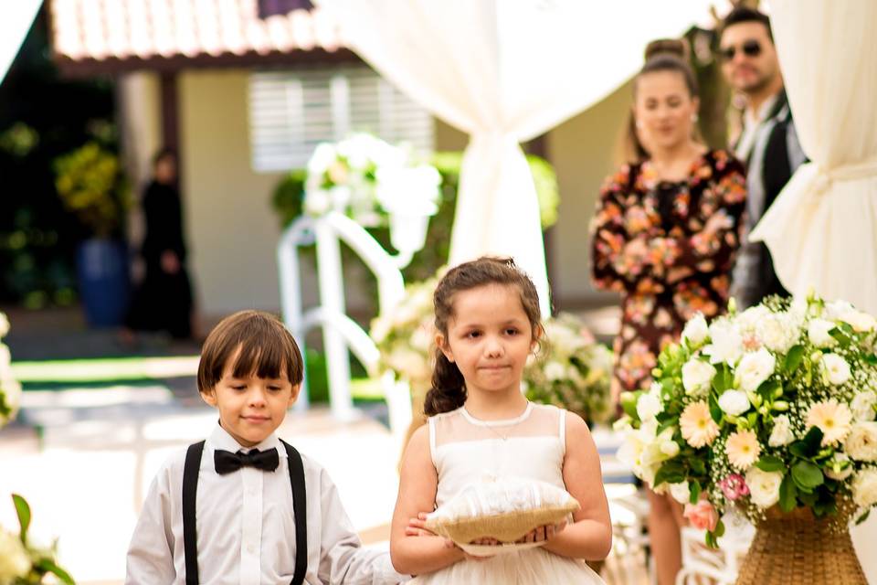
[[[440,185],[439,171],[410,149],[359,133],[314,150],[304,211],[318,217],[334,209],[363,226],[386,225],[388,214],[434,215]]]

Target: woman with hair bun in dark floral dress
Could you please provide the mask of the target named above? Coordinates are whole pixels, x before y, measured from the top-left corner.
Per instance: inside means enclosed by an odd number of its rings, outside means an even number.
[[[592,226],[594,281],[622,298],[616,397],[650,387],[661,348],[679,339],[694,314],[724,312],[745,208],[743,166],[693,138],[697,86],[681,41],[650,49],[634,83],[642,156],[608,177]],[[660,585],[682,565],[681,510],[668,497],[650,493]]]

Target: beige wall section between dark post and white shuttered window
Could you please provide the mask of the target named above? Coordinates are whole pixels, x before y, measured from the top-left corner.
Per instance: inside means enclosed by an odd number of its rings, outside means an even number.
[[[198,309],[208,320],[280,307],[270,197],[280,174],[250,166],[248,70],[188,71],[178,82],[185,228]]]

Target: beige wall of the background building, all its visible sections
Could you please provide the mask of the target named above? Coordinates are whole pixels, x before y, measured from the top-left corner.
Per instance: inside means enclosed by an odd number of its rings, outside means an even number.
[[[247,69],[187,71],[178,81],[180,154],[185,229],[198,309],[210,322],[243,308],[280,307],[275,247],[280,238],[270,207],[279,173],[256,173],[250,166]],[[154,74],[130,76],[124,90],[127,119],[136,129],[138,171],[158,146],[160,117]],[[597,191],[615,165],[621,124],[629,107],[625,85],[590,110],[548,134],[548,155],[560,186],[560,219],[553,229],[551,257],[555,304],[560,308],[611,303],[589,282],[586,228]],[[460,133],[436,122],[437,150],[462,150]],[[315,301],[310,264],[302,262],[305,302]],[[355,279],[354,279],[355,280]],[[363,305],[355,286],[348,303]]]

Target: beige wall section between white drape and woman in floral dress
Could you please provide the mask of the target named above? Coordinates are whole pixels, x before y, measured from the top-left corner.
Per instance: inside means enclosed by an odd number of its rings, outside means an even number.
[[[615,168],[618,139],[630,107],[630,85],[557,126],[548,134],[548,156],[560,188],[560,216],[551,234],[552,292],[559,308],[612,303],[590,282],[588,224],[603,178]]]

